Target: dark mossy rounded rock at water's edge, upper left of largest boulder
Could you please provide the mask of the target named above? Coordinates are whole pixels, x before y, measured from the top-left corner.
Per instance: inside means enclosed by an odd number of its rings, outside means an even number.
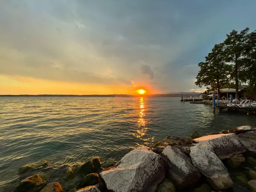
[[[101,168],[101,162],[99,158],[95,158],[93,160],[87,161],[84,163],[79,169],[79,173],[82,176],[86,176],[90,173],[96,173]]]

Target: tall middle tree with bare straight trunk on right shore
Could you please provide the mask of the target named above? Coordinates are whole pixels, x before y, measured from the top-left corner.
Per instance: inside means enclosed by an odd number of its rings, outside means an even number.
[[[240,33],[233,30],[230,34],[227,34],[227,38],[224,41],[224,54],[226,61],[234,66],[234,69],[231,71],[231,77],[235,79],[236,83],[236,99],[239,99],[239,69],[243,66],[244,62],[243,53],[248,31],[248,27]]]

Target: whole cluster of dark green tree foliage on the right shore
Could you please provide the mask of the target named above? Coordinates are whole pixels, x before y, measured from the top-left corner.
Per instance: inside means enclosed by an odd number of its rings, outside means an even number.
[[[198,64],[195,84],[218,90],[234,87],[238,99],[239,86],[246,83],[256,96],[256,31],[248,32],[248,27],[240,33],[233,30],[224,42],[215,44],[205,61]]]

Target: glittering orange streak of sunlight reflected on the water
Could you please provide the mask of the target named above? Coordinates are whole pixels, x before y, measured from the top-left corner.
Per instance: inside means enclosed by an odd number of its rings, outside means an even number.
[[[135,137],[140,138],[144,141],[143,145],[137,143],[138,146],[148,146],[154,141],[154,137],[147,138],[146,132],[149,129],[146,125],[145,119],[145,112],[146,112],[146,105],[145,105],[145,98],[140,97],[140,111],[139,111],[139,119],[138,119],[138,129],[137,134],[134,134]]]

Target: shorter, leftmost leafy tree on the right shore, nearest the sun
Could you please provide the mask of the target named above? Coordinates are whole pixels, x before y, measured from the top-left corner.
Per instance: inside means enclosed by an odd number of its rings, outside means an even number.
[[[212,52],[205,57],[205,62],[198,64],[200,71],[196,76],[196,85],[199,87],[210,86],[218,89],[225,84],[229,84],[229,73],[231,66],[225,62],[224,44],[216,44]]]

